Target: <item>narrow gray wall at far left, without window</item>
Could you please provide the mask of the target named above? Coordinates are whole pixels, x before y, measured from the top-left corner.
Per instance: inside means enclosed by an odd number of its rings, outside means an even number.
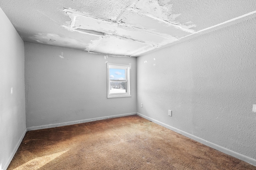
[[[24,43],[0,8],[0,169],[7,168],[26,129]]]

